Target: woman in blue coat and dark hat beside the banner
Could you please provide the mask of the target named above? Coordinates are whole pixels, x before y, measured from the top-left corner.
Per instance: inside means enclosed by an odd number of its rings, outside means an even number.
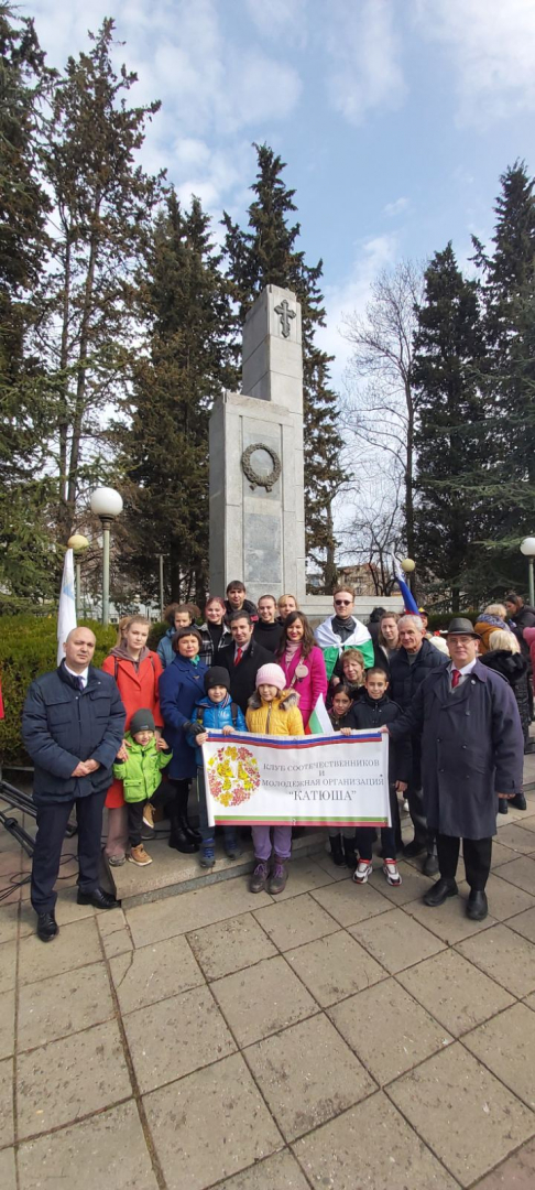
[[[169,779],[176,797],[171,803],[169,846],[177,851],[199,851],[201,837],[188,821],[188,797],[195,776],[195,756],[188,745],[195,703],[204,689],[206,665],[199,659],[201,635],[197,628],[178,628],[172,638],[175,658],[159,679],[159,709],[165,724],[164,738],[172,749]]]

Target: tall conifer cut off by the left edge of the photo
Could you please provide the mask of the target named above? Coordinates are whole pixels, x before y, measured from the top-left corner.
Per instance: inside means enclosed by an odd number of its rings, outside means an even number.
[[[54,394],[32,350],[34,294],[48,246],[39,176],[40,101],[52,71],[32,20],[0,5],[0,589],[34,600],[54,589],[50,484],[40,478]]]

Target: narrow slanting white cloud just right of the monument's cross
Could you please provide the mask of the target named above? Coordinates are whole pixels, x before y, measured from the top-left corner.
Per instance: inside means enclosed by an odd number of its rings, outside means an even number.
[[[378,274],[394,264],[397,256],[396,236],[373,236],[357,245],[355,258],[346,277],[338,286],[326,286],[325,305],[327,325],[317,331],[317,345],[334,356],[331,368],[334,388],[344,387],[344,374],[354,346],[344,337],[344,319],[364,315],[371,298],[371,286]]]

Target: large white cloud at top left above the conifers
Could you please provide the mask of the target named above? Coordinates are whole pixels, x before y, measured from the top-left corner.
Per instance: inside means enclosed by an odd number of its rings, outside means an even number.
[[[307,0],[288,5],[297,20]],[[253,14],[254,5],[248,5]],[[265,10],[265,11],[264,11]],[[107,0],[33,0],[36,26],[50,65],[62,68],[69,54],[88,51],[87,30],[96,32],[109,12]],[[270,0],[269,12],[256,12],[262,30],[269,14],[272,27],[291,30],[287,7]],[[126,63],[138,82],[130,102],[162,100],[146,126],[140,159],[146,170],[168,169],[184,203],[190,195],[219,215],[243,194],[254,165],[250,142],[272,136],[301,95],[300,75],[283,52],[265,52],[250,37],[239,48],[232,24],[218,0],[128,0],[117,18],[115,67]],[[282,39],[284,43],[284,38]],[[265,133],[264,133],[265,125]],[[215,148],[214,148],[215,145]]]

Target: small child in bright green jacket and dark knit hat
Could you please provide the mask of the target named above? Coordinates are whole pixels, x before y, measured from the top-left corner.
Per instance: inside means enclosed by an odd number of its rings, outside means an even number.
[[[128,854],[131,864],[144,868],[152,859],[141,843],[143,810],[156,794],[162,781],[162,769],[169,764],[172,752],[162,737],[156,739],[155,719],[145,707],[132,715],[130,732],[125,737],[127,758],[115,760],[114,777],[122,781],[128,818]]]

